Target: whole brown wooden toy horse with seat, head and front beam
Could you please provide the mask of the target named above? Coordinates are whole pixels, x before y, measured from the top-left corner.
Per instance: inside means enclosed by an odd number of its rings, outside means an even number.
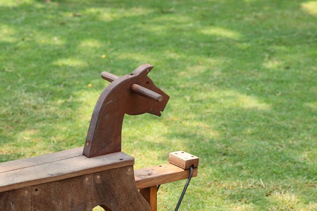
[[[110,85],[94,108],[83,147],[0,163],[1,211],[156,211],[157,185],[197,176],[199,158],[172,152],[169,163],[134,171],[121,151],[125,114],[161,116],[169,96],[144,64],[121,77],[102,72]],[[139,189],[139,190],[138,190]]]

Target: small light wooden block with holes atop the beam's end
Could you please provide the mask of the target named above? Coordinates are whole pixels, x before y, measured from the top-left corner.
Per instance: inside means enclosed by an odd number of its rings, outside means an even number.
[[[181,168],[188,169],[190,166],[197,167],[199,162],[199,157],[189,154],[184,151],[171,152],[168,155],[169,163],[177,165]]]

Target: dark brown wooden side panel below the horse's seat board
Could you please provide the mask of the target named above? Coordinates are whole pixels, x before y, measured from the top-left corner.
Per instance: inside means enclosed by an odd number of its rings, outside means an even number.
[[[134,183],[133,165],[0,193],[1,211],[150,211]]]

